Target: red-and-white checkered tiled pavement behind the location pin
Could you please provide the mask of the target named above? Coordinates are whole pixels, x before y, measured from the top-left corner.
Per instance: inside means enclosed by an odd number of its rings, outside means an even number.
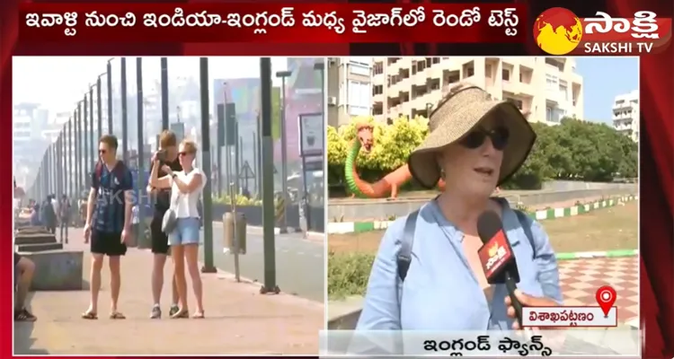
[[[559,262],[565,305],[597,305],[602,285],[616,289],[618,322],[639,316],[639,258],[589,258]],[[637,320],[638,322],[638,320]]]

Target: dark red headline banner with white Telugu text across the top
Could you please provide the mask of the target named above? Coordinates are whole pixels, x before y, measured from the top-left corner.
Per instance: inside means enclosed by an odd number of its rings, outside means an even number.
[[[48,4],[19,6],[21,41],[523,42],[519,4]]]

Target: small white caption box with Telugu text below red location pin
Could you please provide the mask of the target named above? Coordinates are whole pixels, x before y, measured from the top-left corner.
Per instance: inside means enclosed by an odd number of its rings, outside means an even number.
[[[608,315],[599,307],[522,308],[523,327],[617,327],[617,307]]]

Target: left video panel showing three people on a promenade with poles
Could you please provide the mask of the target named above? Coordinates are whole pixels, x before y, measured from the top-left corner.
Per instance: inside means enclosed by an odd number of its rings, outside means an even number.
[[[325,102],[322,57],[13,57],[15,354],[316,355]]]

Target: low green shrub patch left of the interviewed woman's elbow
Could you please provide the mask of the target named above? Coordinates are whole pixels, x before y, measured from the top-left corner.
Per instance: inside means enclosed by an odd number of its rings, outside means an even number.
[[[374,260],[368,253],[328,253],[328,298],[364,295]]]

